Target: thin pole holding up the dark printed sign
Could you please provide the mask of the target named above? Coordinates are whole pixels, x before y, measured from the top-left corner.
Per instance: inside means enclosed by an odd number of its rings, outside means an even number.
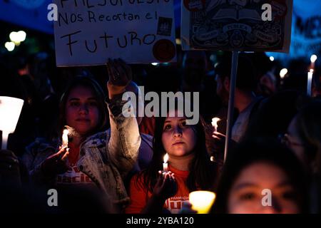
[[[224,162],[228,156],[228,147],[232,138],[233,114],[234,114],[234,97],[236,85],[236,73],[238,72],[238,51],[232,53],[232,68],[230,72],[230,98],[228,102],[228,125],[226,126]]]

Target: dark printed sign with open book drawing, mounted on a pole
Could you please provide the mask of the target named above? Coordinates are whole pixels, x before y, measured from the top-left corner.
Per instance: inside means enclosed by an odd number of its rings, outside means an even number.
[[[292,0],[182,0],[182,48],[288,52],[291,19]]]

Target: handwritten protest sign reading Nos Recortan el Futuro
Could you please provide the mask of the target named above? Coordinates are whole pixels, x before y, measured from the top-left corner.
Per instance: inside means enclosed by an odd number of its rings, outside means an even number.
[[[175,61],[173,0],[54,0],[57,66]]]

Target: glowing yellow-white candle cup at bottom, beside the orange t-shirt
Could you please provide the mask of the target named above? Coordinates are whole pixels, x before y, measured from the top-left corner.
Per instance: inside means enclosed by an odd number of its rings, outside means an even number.
[[[215,200],[215,193],[208,191],[190,192],[189,201],[192,204],[192,209],[198,214],[208,214]]]

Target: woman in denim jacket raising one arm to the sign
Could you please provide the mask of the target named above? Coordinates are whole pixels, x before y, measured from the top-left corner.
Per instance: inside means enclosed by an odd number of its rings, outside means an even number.
[[[136,164],[141,135],[136,118],[123,115],[123,106],[131,102],[123,100],[132,83],[131,67],[110,59],[107,69],[106,108],[101,89],[88,78],[76,78],[62,97],[60,126],[68,125],[69,150],[59,147],[60,138],[51,144],[36,141],[24,162],[34,183],[63,192],[99,190],[113,212],[121,212],[129,202],[123,181]],[[111,128],[97,133],[106,123],[107,108]]]

